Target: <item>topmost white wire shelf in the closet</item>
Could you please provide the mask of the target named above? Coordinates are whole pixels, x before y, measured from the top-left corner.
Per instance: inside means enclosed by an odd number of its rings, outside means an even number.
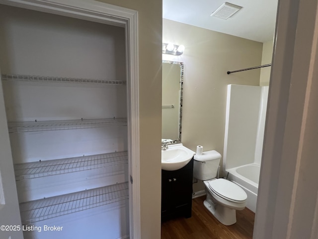
[[[29,75],[15,75],[15,74],[2,74],[1,79],[7,80],[7,81],[23,81],[23,82],[102,84],[102,85],[116,85],[116,86],[126,85],[126,81],[54,77],[54,76],[29,76]]]

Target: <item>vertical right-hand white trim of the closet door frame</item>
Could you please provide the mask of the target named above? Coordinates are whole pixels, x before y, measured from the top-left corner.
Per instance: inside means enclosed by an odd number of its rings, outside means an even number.
[[[127,59],[127,108],[128,108],[128,152],[129,169],[133,178],[129,191],[130,235],[132,239],[141,237],[140,219],[140,172],[139,172],[139,74],[138,74],[138,12],[131,17],[126,27]],[[132,44],[135,43],[135,44]]]

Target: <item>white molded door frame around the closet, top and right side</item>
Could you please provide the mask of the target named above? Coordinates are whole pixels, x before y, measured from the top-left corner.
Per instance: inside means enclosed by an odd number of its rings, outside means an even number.
[[[138,11],[94,0],[1,0],[2,4],[125,28],[130,238],[140,239]]]

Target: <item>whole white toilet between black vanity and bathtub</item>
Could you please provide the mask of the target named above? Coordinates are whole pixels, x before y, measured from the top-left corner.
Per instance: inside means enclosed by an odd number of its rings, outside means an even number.
[[[194,155],[193,177],[205,184],[204,206],[220,223],[230,226],[237,222],[236,210],[245,208],[247,195],[235,183],[216,179],[220,159],[221,154],[215,150]]]

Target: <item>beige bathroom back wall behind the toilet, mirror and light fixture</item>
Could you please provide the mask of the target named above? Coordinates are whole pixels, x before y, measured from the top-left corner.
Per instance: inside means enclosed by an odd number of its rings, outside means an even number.
[[[227,71],[260,65],[263,44],[167,19],[162,29],[163,42],[185,45],[181,56],[162,55],[184,62],[181,141],[194,151],[202,145],[223,154],[227,85],[258,86],[260,76],[260,69]],[[194,185],[194,191],[203,189]]]

